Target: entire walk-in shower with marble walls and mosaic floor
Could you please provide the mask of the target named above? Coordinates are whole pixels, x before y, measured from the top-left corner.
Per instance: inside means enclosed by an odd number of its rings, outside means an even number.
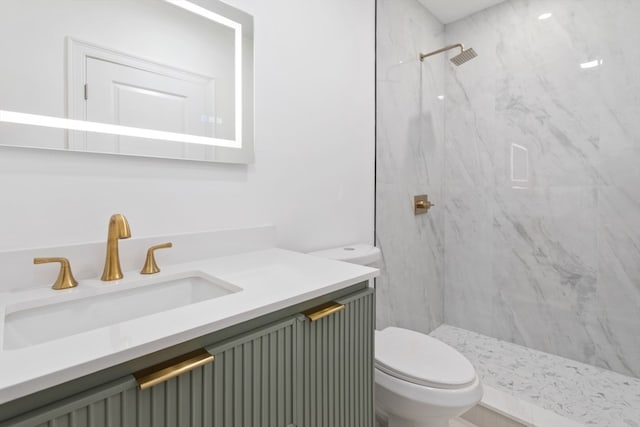
[[[640,427],[640,1],[440,3],[377,0],[377,326],[519,401]],[[415,194],[436,207],[413,217]]]

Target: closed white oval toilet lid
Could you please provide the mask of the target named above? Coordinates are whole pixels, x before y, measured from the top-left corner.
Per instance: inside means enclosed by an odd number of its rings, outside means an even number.
[[[476,378],[471,362],[453,347],[408,329],[376,331],[375,355],[376,368],[418,385],[455,389]]]

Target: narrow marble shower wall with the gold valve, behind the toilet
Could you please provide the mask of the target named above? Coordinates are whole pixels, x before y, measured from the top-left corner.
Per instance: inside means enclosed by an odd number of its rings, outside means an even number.
[[[378,0],[376,244],[377,327],[429,332],[443,321],[444,209],[415,217],[413,196],[442,199],[444,27],[417,0]]]

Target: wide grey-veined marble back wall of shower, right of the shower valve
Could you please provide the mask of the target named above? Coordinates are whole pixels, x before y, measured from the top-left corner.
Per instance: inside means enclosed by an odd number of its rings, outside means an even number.
[[[508,0],[447,25],[479,57],[445,73],[446,323],[640,376],[638,16]]]

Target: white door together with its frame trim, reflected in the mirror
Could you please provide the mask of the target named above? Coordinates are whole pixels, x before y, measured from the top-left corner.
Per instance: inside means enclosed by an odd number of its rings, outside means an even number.
[[[216,137],[215,79],[113,50],[70,40],[69,110],[75,118],[143,129]],[[69,148],[184,158],[189,147],[177,142],[101,133],[73,132]],[[191,153],[193,154],[193,153]],[[187,156],[188,157],[188,156]],[[209,156],[206,156],[209,157]]]

